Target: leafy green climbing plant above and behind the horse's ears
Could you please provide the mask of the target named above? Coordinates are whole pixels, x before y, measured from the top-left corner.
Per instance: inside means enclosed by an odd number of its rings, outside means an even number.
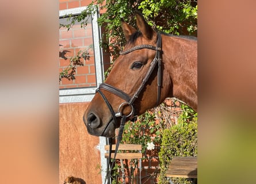
[[[134,10],[142,11],[148,24],[154,29],[171,34],[197,35],[197,1],[144,0],[109,1],[102,6],[106,13],[98,19],[105,26],[105,46],[115,60],[125,45],[121,18],[135,26]],[[107,24],[106,24],[107,23]],[[135,26],[136,27],[136,26]]]

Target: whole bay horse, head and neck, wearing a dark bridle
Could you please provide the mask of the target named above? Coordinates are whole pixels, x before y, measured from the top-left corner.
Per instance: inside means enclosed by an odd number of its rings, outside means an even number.
[[[142,14],[135,16],[139,30],[121,20],[127,44],[83,115],[91,135],[113,137],[121,120],[167,97],[197,111],[197,39],[155,32]]]

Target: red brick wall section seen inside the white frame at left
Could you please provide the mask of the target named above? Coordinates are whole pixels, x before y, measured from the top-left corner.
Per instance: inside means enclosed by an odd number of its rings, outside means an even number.
[[[67,50],[67,60],[60,58],[60,71],[70,64],[70,58],[78,54],[79,51],[83,51],[89,48],[89,45],[93,44],[93,33],[91,24],[88,24],[85,28],[81,28],[80,25],[74,25],[70,30],[66,28],[60,28],[59,30],[59,44],[60,52]],[[60,82],[60,89],[72,88],[72,87],[90,87],[96,86],[95,76],[95,64],[94,64],[94,52],[93,48],[89,49],[89,60],[82,59],[84,66],[78,66],[76,70],[75,80],[68,81],[63,78]]]

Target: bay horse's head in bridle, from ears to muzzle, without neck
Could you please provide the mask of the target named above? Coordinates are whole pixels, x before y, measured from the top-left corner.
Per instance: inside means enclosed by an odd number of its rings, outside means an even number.
[[[122,116],[131,120],[173,96],[173,81],[165,69],[169,67],[161,63],[162,55],[169,55],[162,50],[162,44],[167,48],[168,43],[164,43],[162,35],[138,12],[139,30],[123,20],[121,24],[127,44],[83,115],[91,135],[113,137]]]

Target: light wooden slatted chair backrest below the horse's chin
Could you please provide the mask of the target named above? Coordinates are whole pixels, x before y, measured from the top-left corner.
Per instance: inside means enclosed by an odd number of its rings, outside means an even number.
[[[105,158],[109,158],[109,145],[105,145],[105,150],[108,153],[105,153]],[[114,151],[116,150],[116,144],[112,145],[112,154],[111,158],[114,158]],[[141,159],[142,158],[142,145],[141,144],[120,144],[119,151],[117,152],[116,159]],[[129,151],[138,151],[138,152],[129,152]]]

